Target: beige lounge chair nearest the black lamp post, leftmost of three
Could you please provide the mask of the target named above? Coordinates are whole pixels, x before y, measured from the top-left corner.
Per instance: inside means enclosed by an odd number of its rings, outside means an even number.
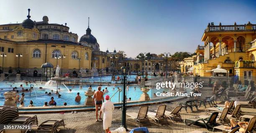
[[[140,127],[141,122],[146,120],[149,123],[149,119],[147,116],[148,113],[148,106],[141,106],[138,113],[126,113],[126,116],[128,118],[131,118],[132,120],[135,120],[135,123],[138,123],[138,126]]]

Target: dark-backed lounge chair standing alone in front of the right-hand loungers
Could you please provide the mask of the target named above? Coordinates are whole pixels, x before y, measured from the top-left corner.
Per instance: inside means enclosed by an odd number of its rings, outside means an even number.
[[[218,112],[213,112],[209,118],[189,118],[189,119],[185,119],[184,123],[186,125],[192,125],[192,124],[200,124],[200,125],[204,125],[205,128],[207,128],[207,130],[209,130],[210,128],[213,128],[214,126],[219,125],[218,123],[216,123],[216,119],[218,117]],[[190,122],[190,123],[188,123]]]

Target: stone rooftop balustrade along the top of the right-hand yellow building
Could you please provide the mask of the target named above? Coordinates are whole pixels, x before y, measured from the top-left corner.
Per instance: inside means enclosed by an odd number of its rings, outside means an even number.
[[[214,26],[208,24],[207,28],[205,29],[205,32],[225,32],[225,31],[253,31],[256,30],[256,24],[251,24],[248,22],[248,24],[244,25],[226,25],[222,26],[221,23],[219,26]]]

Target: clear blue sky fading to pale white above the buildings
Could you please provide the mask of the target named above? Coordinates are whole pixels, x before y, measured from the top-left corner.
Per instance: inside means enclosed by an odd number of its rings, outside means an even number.
[[[256,0],[1,0],[0,24],[21,23],[28,8],[31,19],[67,23],[79,38],[88,17],[100,50],[194,53],[207,24],[256,23]]]

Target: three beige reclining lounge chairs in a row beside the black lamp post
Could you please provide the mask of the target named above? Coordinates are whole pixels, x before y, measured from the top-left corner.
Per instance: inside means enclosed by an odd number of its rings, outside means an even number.
[[[182,107],[178,106],[175,107],[172,111],[167,111],[166,105],[159,105],[157,110],[154,110],[154,112],[149,112],[148,106],[142,106],[140,107],[138,113],[126,113],[126,116],[127,118],[129,118],[128,120],[137,123],[139,127],[140,125],[151,125],[149,119],[151,119],[158,125],[164,123],[169,124],[167,119],[174,121],[174,118],[179,118],[180,120],[182,120],[181,115],[179,114],[181,109]],[[160,120],[162,120],[163,122],[161,123]],[[145,122],[146,124],[142,124],[142,122]]]

